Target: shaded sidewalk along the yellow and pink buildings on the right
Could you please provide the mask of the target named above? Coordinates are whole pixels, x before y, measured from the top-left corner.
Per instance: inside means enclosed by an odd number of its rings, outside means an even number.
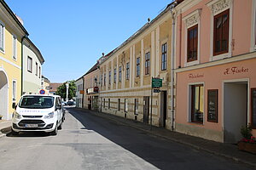
[[[143,122],[137,122],[134,120],[125,119],[124,117],[114,116],[108,113],[89,111],[85,109],[78,109],[80,111],[90,112],[96,116],[101,116],[103,118],[119,122],[125,126],[135,127],[139,130],[142,130],[146,133],[154,134],[160,138],[169,139],[180,144],[186,144],[190,147],[195,148],[196,150],[204,150],[216,156],[224,156],[225,158],[232,159],[241,163],[245,163],[249,166],[252,166],[256,169],[256,155],[247,153],[241,150],[238,150],[236,144],[223,144],[214,142],[207,139],[201,139],[198,137],[189,136],[183,133],[176,133],[170,130],[166,130],[163,127],[152,127],[150,130],[150,125]]]

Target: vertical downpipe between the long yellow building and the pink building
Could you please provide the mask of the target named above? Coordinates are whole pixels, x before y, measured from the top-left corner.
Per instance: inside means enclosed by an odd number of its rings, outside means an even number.
[[[174,53],[175,53],[175,14],[173,12],[173,8],[176,3],[173,3],[171,6],[171,14],[172,14],[172,55],[171,55],[171,115],[172,115],[172,131],[174,131]]]

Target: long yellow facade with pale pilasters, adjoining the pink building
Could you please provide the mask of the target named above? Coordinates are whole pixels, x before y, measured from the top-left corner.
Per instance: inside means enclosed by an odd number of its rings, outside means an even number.
[[[99,65],[100,111],[145,123],[151,123],[152,113],[154,126],[171,129],[171,51],[172,13],[167,7]],[[162,87],[151,97],[152,77],[162,79]]]

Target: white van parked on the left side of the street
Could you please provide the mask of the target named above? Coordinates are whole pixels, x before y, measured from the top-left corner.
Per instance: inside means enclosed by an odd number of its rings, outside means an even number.
[[[43,131],[56,135],[64,121],[61,97],[46,94],[22,95],[12,118],[12,133]]]

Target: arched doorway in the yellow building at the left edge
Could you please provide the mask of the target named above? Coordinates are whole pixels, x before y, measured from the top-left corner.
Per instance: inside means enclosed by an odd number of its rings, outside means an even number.
[[[8,119],[8,79],[0,68],[0,115]]]

